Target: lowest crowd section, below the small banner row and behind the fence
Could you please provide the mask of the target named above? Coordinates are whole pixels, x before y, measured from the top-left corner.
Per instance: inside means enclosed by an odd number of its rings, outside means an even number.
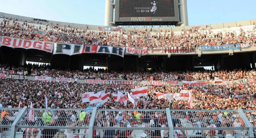
[[[3,107],[18,107],[19,103],[22,103],[22,107],[29,106],[31,102],[34,108],[45,108],[45,96],[48,99],[49,108],[66,108],[74,109],[78,108],[86,111],[88,106],[95,106],[96,104],[82,103],[81,94],[85,92],[94,92],[105,90],[105,93],[117,93],[120,91],[126,95],[130,93],[132,88],[143,87],[142,85],[102,85],[102,84],[80,84],[80,83],[58,83],[58,82],[40,82],[40,81],[29,81],[29,80],[0,80],[0,100]],[[168,127],[167,116],[162,111],[149,111],[147,109],[190,109],[188,108],[188,101],[180,100],[168,100],[168,99],[157,99],[155,92],[159,93],[180,93],[181,90],[190,90],[192,92],[193,103],[191,109],[202,109],[202,110],[218,110],[227,109],[223,112],[183,112],[174,111],[172,112],[174,126],[183,125],[186,127],[188,124],[198,125],[198,121],[201,121],[201,127],[241,127],[244,122],[241,121],[241,117],[238,113],[228,111],[228,109],[256,109],[256,84],[230,84],[230,85],[196,85],[196,86],[148,86],[148,95],[137,99],[136,107],[133,106],[130,101],[125,105],[122,102],[115,102],[112,95],[107,103],[100,105],[99,109],[117,109],[120,111],[98,111],[96,114],[95,126],[116,126],[116,127],[136,127],[144,125],[143,127]],[[123,109],[145,109],[141,112],[123,111]],[[39,111],[35,112],[36,125],[61,125],[61,126],[82,126],[88,125],[90,113],[86,112],[86,116],[81,120],[82,112],[70,112],[70,111],[54,111],[49,110],[48,117],[42,118],[42,114]],[[29,113],[28,113],[29,114]],[[255,114],[248,114],[251,116],[250,122],[255,123]],[[248,116],[248,117],[249,117]],[[26,116],[28,118],[28,115]],[[25,117],[25,118],[26,118]],[[58,118],[60,120],[58,120]],[[175,119],[176,118],[176,119]],[[66,120],[65,120],[66,119]],[[4,120],[4,119],[2,119]],[[58,120],[58,121],[57,121]],[[219,120],[221,122],[219,122]],[[29,123],[26,119],[23,123]],[[33,123],[33,125],[35,125]],[[31,123],[30,123],[31,124]],[[24,125],[24,124],[23,124]],[[199,125],[198,125],[199,126]],[[188,126],[187,126],[188,127]],[[200,129],[198,129],[200,130]],[[42,130],[39,130],[42,131]],[[48,133],[55,133],[69,131],[69,130],[51,130],[51,132],[42,132],[41,135],[48,136]],[[81,131],[81,130],[80,130]],[[101,132],[102,131],[102,132]],[[113,130],[112,136],[120,134],[121,130]],[[122,132],[129,136],[133,130],[125,130],[127,133]],[[178,130],[177,130],[178,131]],[[206,130],[205,130],[206,131]],[[200,130],[197,134],[207,134],[207,132]],[[213,131],[213,130],[212,130]],[[212,135],[224,134],[225,130],[215,130]],[[225,131],[226,134],[246,134],[241,130],[229,130]],[[25,130],[23,131],[25,132]],[[145,133],[149,134],[151,130],[144,130]],[[166,133],[164,133],[166,132]],[[47,133],[47,134],[44,134]],[[71,131],[70,131],[71,133]],[[103,133],[103,134],[101,134]],[[109,131],[106,130],[95,130],[94,136],[97,135],[110,135]],[[151,136],[165,136],[168,133],[167,130],[159,130],[154,132]],[[178,132],[176,132],[178,133]],[[188,131],[182,130],[179,134],[186,136]],[[64,132],[65,136],[69,133]],[[170,135],[170,134],[169,134]],[[70,138],[73,138],[74,134],[70,134]]]

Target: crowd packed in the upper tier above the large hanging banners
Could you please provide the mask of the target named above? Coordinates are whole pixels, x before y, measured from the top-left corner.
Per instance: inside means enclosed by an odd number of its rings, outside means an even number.
[[[42,23],[42,22],[41,22]],[[240,28],[236,31],[218,31],[211,29],[203,30],[200,28],[181,30],[180,34],[173,31],[152,31],[152,29],[125,30],[123,32],[109,31],[87,31],[77,27],[59,26],[57,23],[44,23],[35,27],[35,23],[26,21],[17,21],[11,18],[4,19],[0,24],[0,35],[17,37],[23,39],[33,39],[40,41],[52,41],[60,43],[107,45],[120,47],[172,47],[172,46],[203,46],[203,45],[222,45],[237,43],[255,43],[254,25],[247,31]],[[36,25],[37,26],[37,25]],[[37,31],[44,33],[38,34]],[[147,41],[146,38],[154,38],[153,41]]]

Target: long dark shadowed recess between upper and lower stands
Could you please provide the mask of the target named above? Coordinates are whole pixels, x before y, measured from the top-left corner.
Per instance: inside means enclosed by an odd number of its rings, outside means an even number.
[[[256,52],[201,55],[124,55],[124,58],[110,54],[53,55],[50,52],[35,49],[10,48],[1,46],[0,63],[22,66],[27,61],[50,63],[52,68],[78,69],[83,66],[107,67],[109,71],[149,71],[149,70],[202,70],[204,66],[218,69],[254,68]],[[252,67],[251,67],[252,65]],[[199,67],[199,68],[197,68]]]

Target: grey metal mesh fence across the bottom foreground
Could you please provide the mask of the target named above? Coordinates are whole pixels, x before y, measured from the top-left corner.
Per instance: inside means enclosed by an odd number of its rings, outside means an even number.
[[[0,138],[247,138],[256,110],[2,108]]]

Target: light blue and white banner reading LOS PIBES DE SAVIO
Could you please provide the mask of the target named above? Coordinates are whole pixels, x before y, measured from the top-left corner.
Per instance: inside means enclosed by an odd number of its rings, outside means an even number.
[[[198,46],[199,51],[240,49],[240,44]]]

